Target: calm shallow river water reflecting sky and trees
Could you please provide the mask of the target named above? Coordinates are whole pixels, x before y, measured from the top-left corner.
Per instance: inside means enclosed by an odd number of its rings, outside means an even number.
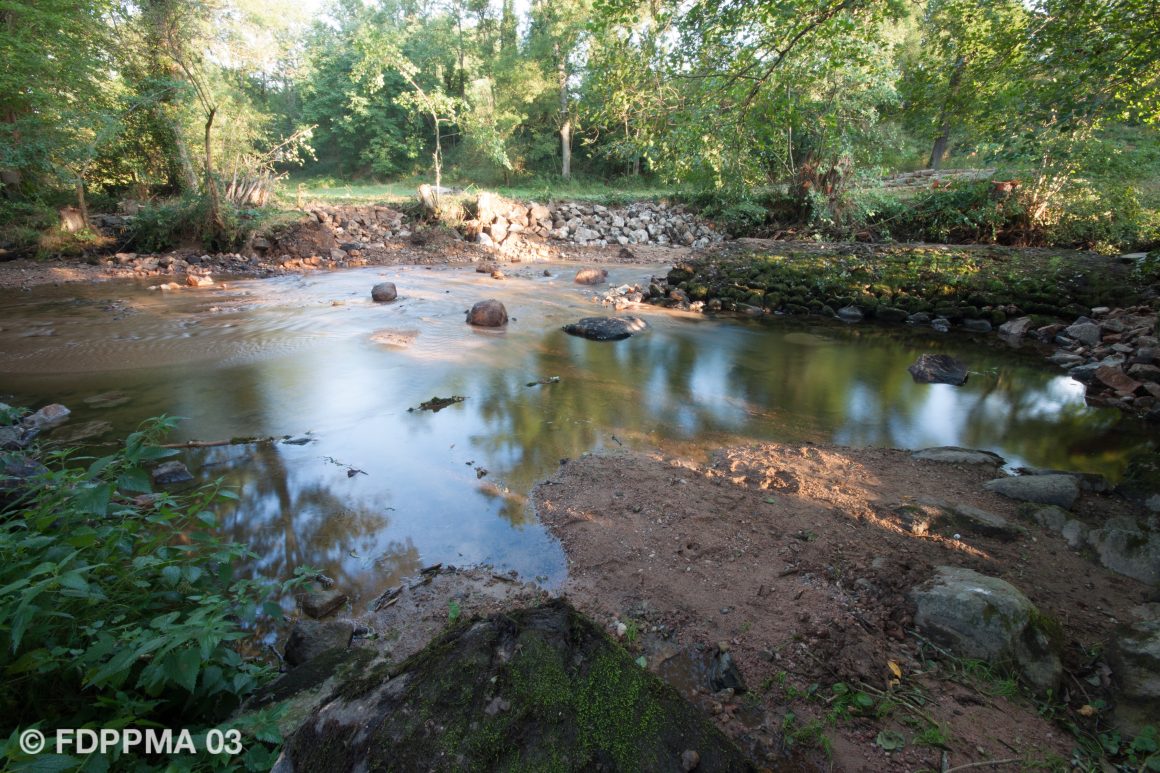
[[[563,552],[527,496],[587,451],[957,445],[1115,478],[1150,442],[1118,412],[1086,406],[1082,386],[1041,355],[994,337],[646,308],[637,313],[650,330],[629,340],[572,338],[561,325],[608,313],[573,272],[544,276],[541,265],[498,282],[471,268],[362,269],[172,294],[131,283],[3,291],[0,399],[64,403],[72,426],[111,422],[107,440],[162,413],[183,417],[175,441],[309,434],[305,445],[183,458],[201,479],[238,490],[225,528],[256,551],[256,571],[285,577],[309,564],[364,600],[435,562],[559,583]],[[616,267],[610,282],[650,273]],[[384,280],[400,299],[375,304],[370,287]],[[507,305],[506,330],[464,324],[486,297]],[[913,383],[906,368],[922,352],[965,360],[970,381]],[[466,399],[408,411],[452,395]]]

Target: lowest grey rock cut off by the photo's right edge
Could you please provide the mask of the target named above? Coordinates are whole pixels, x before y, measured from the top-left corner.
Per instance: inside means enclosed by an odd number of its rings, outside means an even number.
[[[1112,636],[1108,649],[1111,678],[1119,691],[1116,725],[1139,734],[1157,721],[1160,706],[1160,604],[1144,604]]]

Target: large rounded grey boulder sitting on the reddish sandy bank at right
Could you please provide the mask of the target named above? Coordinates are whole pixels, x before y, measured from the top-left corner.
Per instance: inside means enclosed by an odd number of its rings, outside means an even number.
[[[1010,583],[970,569],[938,566],[911,592],[914,624],[963,658],[1013,667],[1044,694],[1063,674],[1056,626]]]

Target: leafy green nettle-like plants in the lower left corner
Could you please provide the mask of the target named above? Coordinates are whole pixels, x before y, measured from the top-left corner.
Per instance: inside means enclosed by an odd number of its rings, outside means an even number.
[[[146,465],[175,453],[158,446],[174,425],[152,419],[100,458],[48,454],[48,471],[0,498],[0,734],[12,734],[9,757],[29,727],[50,736],[85,727],[204,732],[274,673],[241,645],[260,617],[281,617],[276,599],[309,570],[284,583],[239,578],[253,554],[218,535],[211,510],[234,494],[219,484],[152,491]],[[277,742],[269,724],[251,731]],[[233,764],[273,763],[267,746],[247,747]]]

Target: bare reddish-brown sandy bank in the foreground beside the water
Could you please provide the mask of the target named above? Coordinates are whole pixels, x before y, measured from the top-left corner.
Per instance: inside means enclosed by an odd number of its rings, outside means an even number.
[[[1075,739],[1042,714],[1092,727],[1065,703],[1094,700],[1090,653],[1148,591],[1020,519],[1015,503],[981,489],[994,476],[902,450],[764,445],[703,468],[587,456],[541,484],[535,500],[567,552],[563,591],[597,621],[619,622],[650,667],[731,652],[748,692],[709,694],[687,681],[759,761],[776,768],[793,751],[839,771],[1001,759],[1014,760],[1009,770],[1066,770]],[[891,507],[922,497],[980,507],[1027,533],[1010,542],[916,536]],[[1085,494],[1075,511],[1096,520],[1126,507]],[[1001,577],[1060,622],[1063,694],[1036,705],[1001,674],[944,658],[914,635],[906,594],[942,564]],[[868,705],[851,703],[858,692]],[[898,741],[900,751],[883,749]]]

